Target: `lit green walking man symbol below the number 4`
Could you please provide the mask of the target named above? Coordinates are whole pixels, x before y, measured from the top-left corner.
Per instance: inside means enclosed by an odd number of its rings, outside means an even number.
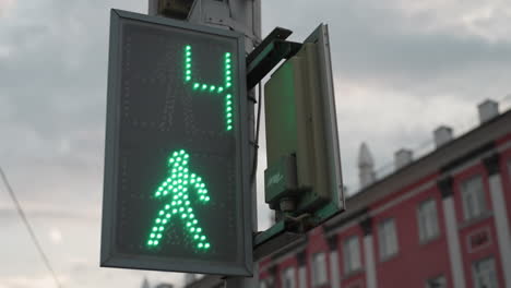
[[[188,168],[190,155],[183,149],[176,151],[168,159],[168,178],[158,187],[155,197],[167,199],[165,206],[157,213],[154,226],[150,231],[147,247],[156,248],[161,244],[166,227],[170,220],[180,220],[183,229],[191,237],[195,249],[206,251],[211,243],[199,226],[193,214],[191,190],[195,190],[199,202],[207,203],[210,196],[202,178]]]

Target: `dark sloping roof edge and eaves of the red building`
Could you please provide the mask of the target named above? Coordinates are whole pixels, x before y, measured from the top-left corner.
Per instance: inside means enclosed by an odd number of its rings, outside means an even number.
[[[428,177],[448,176],[474,157],[495,152],[497,140],[510,132],[511,110],[508,110],[347,197],[346,212],[326,221],[325,231],[354,218],[363,218],[372,203],[394,192]]]

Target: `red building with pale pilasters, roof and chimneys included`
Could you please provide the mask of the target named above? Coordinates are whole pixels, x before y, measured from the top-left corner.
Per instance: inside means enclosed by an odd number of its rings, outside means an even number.
[[[457,139],[437,130],[419,159],[402,151],[345,213],[261,261],[261,287],[511,287],[511,111],[495,107]]]

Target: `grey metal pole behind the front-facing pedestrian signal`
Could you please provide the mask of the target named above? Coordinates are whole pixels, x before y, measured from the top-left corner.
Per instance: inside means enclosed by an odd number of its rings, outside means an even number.
[[[158,2],[168,0],[148,0],[148,14],[158,14]],[[246,52],[249,53],[255,46],[261,43],[261,0],[194,0],[188,13],[188,21],[221,27],[231,31],[237,31],[246,36]],[[255,92],[249,92],[249,97],[255,99]],[[260,95],[261,96],[261,95]],[[249,107],[249,131],[250,131],[250,154],[255,154],[254,131],[254,101],[248,101]],[[252,158],[252,164],[255,158]],[[253,165],[251,165],[253,167]],[[252,224],[254,233],[258,230],[258,214],[257,214],[257,190],[255,181],[251,183],[252,190]],[[259,267],[258,263],[253,263],[253,277],[228,277],[225,280],[226,288],[257,288],[259,287]]]

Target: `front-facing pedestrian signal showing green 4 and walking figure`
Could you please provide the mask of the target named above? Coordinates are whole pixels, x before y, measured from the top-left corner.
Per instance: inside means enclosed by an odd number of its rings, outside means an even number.
[[[249,276],[243,36],[112,10],[102,266]]]

